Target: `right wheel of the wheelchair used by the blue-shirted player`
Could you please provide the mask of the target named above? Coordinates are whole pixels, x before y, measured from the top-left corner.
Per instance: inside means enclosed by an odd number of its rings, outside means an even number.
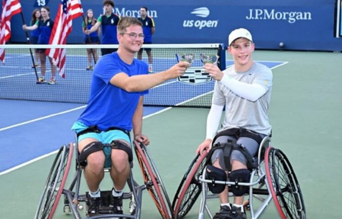
[[[153,163],[150,153],[142,143],[134,141],[135,153],[143,174],[144,183],[163,219],[172,219],[171,203],[165,186]]]

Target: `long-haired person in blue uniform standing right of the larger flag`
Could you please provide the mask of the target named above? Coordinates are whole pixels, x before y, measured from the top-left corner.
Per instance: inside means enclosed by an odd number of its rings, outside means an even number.
[[[86,25],[85,25],[85,22],[86,22]],[[85,22],[82,23],[82,30],[84,34],[87,29],[91,29],[91,27],[94,26],[95,23],[97,22],[97,19],[94,18],[93,10],[88,9],[86,11]],[[100,44],[100,38],[99,38],[100,32],[101,30],[100,28],[98,28],[97,31],[89,35],[85,34],[84,43],[85,44]],[[88,56],[88,66],[86,67],[86,70],[93,70],[94,66],[91,65],[91,60],[92,60],[91,56],[94,55],[95,62],[97,62],[97,60],[99,59],[99,56],[97,55],[97,49],[86,49],[86,53]]]

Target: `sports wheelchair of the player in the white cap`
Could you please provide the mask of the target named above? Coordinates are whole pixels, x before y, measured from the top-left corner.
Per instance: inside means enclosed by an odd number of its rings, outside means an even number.
[[[225,145],[233,146],[229,142]],[[219,146],[219,144],[213,145],[210,152]],[[243,150],[244,146],[235,144],[234,149],[239,147]],[[217,189],[219,186],[224,188],[226,185],[229,186],[230,197],[234,196],[233,193],[239,194],[238,196],[241,194],[248,196],[248,200],[243,205],[245,210],[250,210],[252,219],[259,218],[272,199],[280,218],[306,218],[304,200],[295,172],[285,154],[271,146],[269,136],[262,139],[256,157],[247,157],[248,163],[254,163],[254,165],[248,165],[250,174],[247,178],[245,177],[246,179],[243,179],[244,177],[227,179],[224,171],[225,179],[213,177],[213,174],[208,173],[211,155],[212,153],[208,151],[204,151],[202,155],[198,154],[181,180],[172,201],[176,219],[182,219],[189,213],[201,193],[198,219],[204,219],[205,212],[213,219],[206,201],[218,196],[213,192],[210,193],[210,190],[215,190],[211,188]],[[257,209],[254,207],[257,205],[254,203],[255,200],[261,202],[261,204],[258,203],[260,206]]]

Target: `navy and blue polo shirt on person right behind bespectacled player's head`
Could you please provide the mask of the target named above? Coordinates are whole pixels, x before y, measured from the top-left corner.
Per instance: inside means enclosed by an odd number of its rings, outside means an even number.
[[[102,44],[119,44],[116,37],[116,26],[118,25],[119,20],[120,16],[113,13],[109,17],[107,17],[107,15],[102,15],[97,19],[97,21],[101,22],[102,26]]]

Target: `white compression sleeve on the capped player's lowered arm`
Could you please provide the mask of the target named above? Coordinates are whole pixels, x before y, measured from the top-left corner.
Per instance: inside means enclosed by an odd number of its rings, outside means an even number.
[[[212,104],[207,117],[207,135],[206,139],[213,139],[221,120],[224,106]]]

